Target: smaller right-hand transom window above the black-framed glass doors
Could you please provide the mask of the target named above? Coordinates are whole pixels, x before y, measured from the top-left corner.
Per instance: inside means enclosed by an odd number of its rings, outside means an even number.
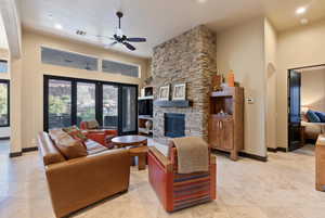
[[[102,70],[110,74],[121,74],[125,76],[139,78],[139,66],[122,64],[118,62],[103,60]]]

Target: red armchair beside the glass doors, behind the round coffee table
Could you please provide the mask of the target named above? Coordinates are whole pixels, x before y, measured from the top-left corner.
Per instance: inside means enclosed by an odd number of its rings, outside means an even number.
[[[80,129],[84,131],[88,139],[91,139],[108,149],[113,148],[112,139],[118,136],[115,129],[99,129],[99,125],[89,125],[90,121],[81,121]],[[91,121],[98,124],[96,121]]]

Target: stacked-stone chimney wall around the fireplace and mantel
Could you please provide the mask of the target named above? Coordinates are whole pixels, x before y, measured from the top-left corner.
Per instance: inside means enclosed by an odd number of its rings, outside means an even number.
[[[154,106],[154,139],[167,143],[165,137],[165,113],[185,114],[185,136],[200,136],[207,139],[209,115],[209,91],[211,75],[217,73],[216,35],[206,26],[197,26],[181,36],[154,48],[152,74],[154,95],[159,87],[186,82],[187,100],[192,107]]]

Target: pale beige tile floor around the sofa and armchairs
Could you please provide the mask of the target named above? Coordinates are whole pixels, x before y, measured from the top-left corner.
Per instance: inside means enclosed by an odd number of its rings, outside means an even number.
[[[38,152],[8,157],[0,142],[0,218],[54,217]],[[160,206],[147,171],[131,169],[129,192],[72,215],[76,218],[325,218],[314,189],[313,148],[270,153],[269,162],[218,159],[218,200],[173,214]]]

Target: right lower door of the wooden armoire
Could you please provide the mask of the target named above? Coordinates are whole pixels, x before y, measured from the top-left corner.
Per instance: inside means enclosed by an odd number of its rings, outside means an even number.
[[[234,149],[234,123],[232,119],[221,121],[221,148],[225,150]]]

